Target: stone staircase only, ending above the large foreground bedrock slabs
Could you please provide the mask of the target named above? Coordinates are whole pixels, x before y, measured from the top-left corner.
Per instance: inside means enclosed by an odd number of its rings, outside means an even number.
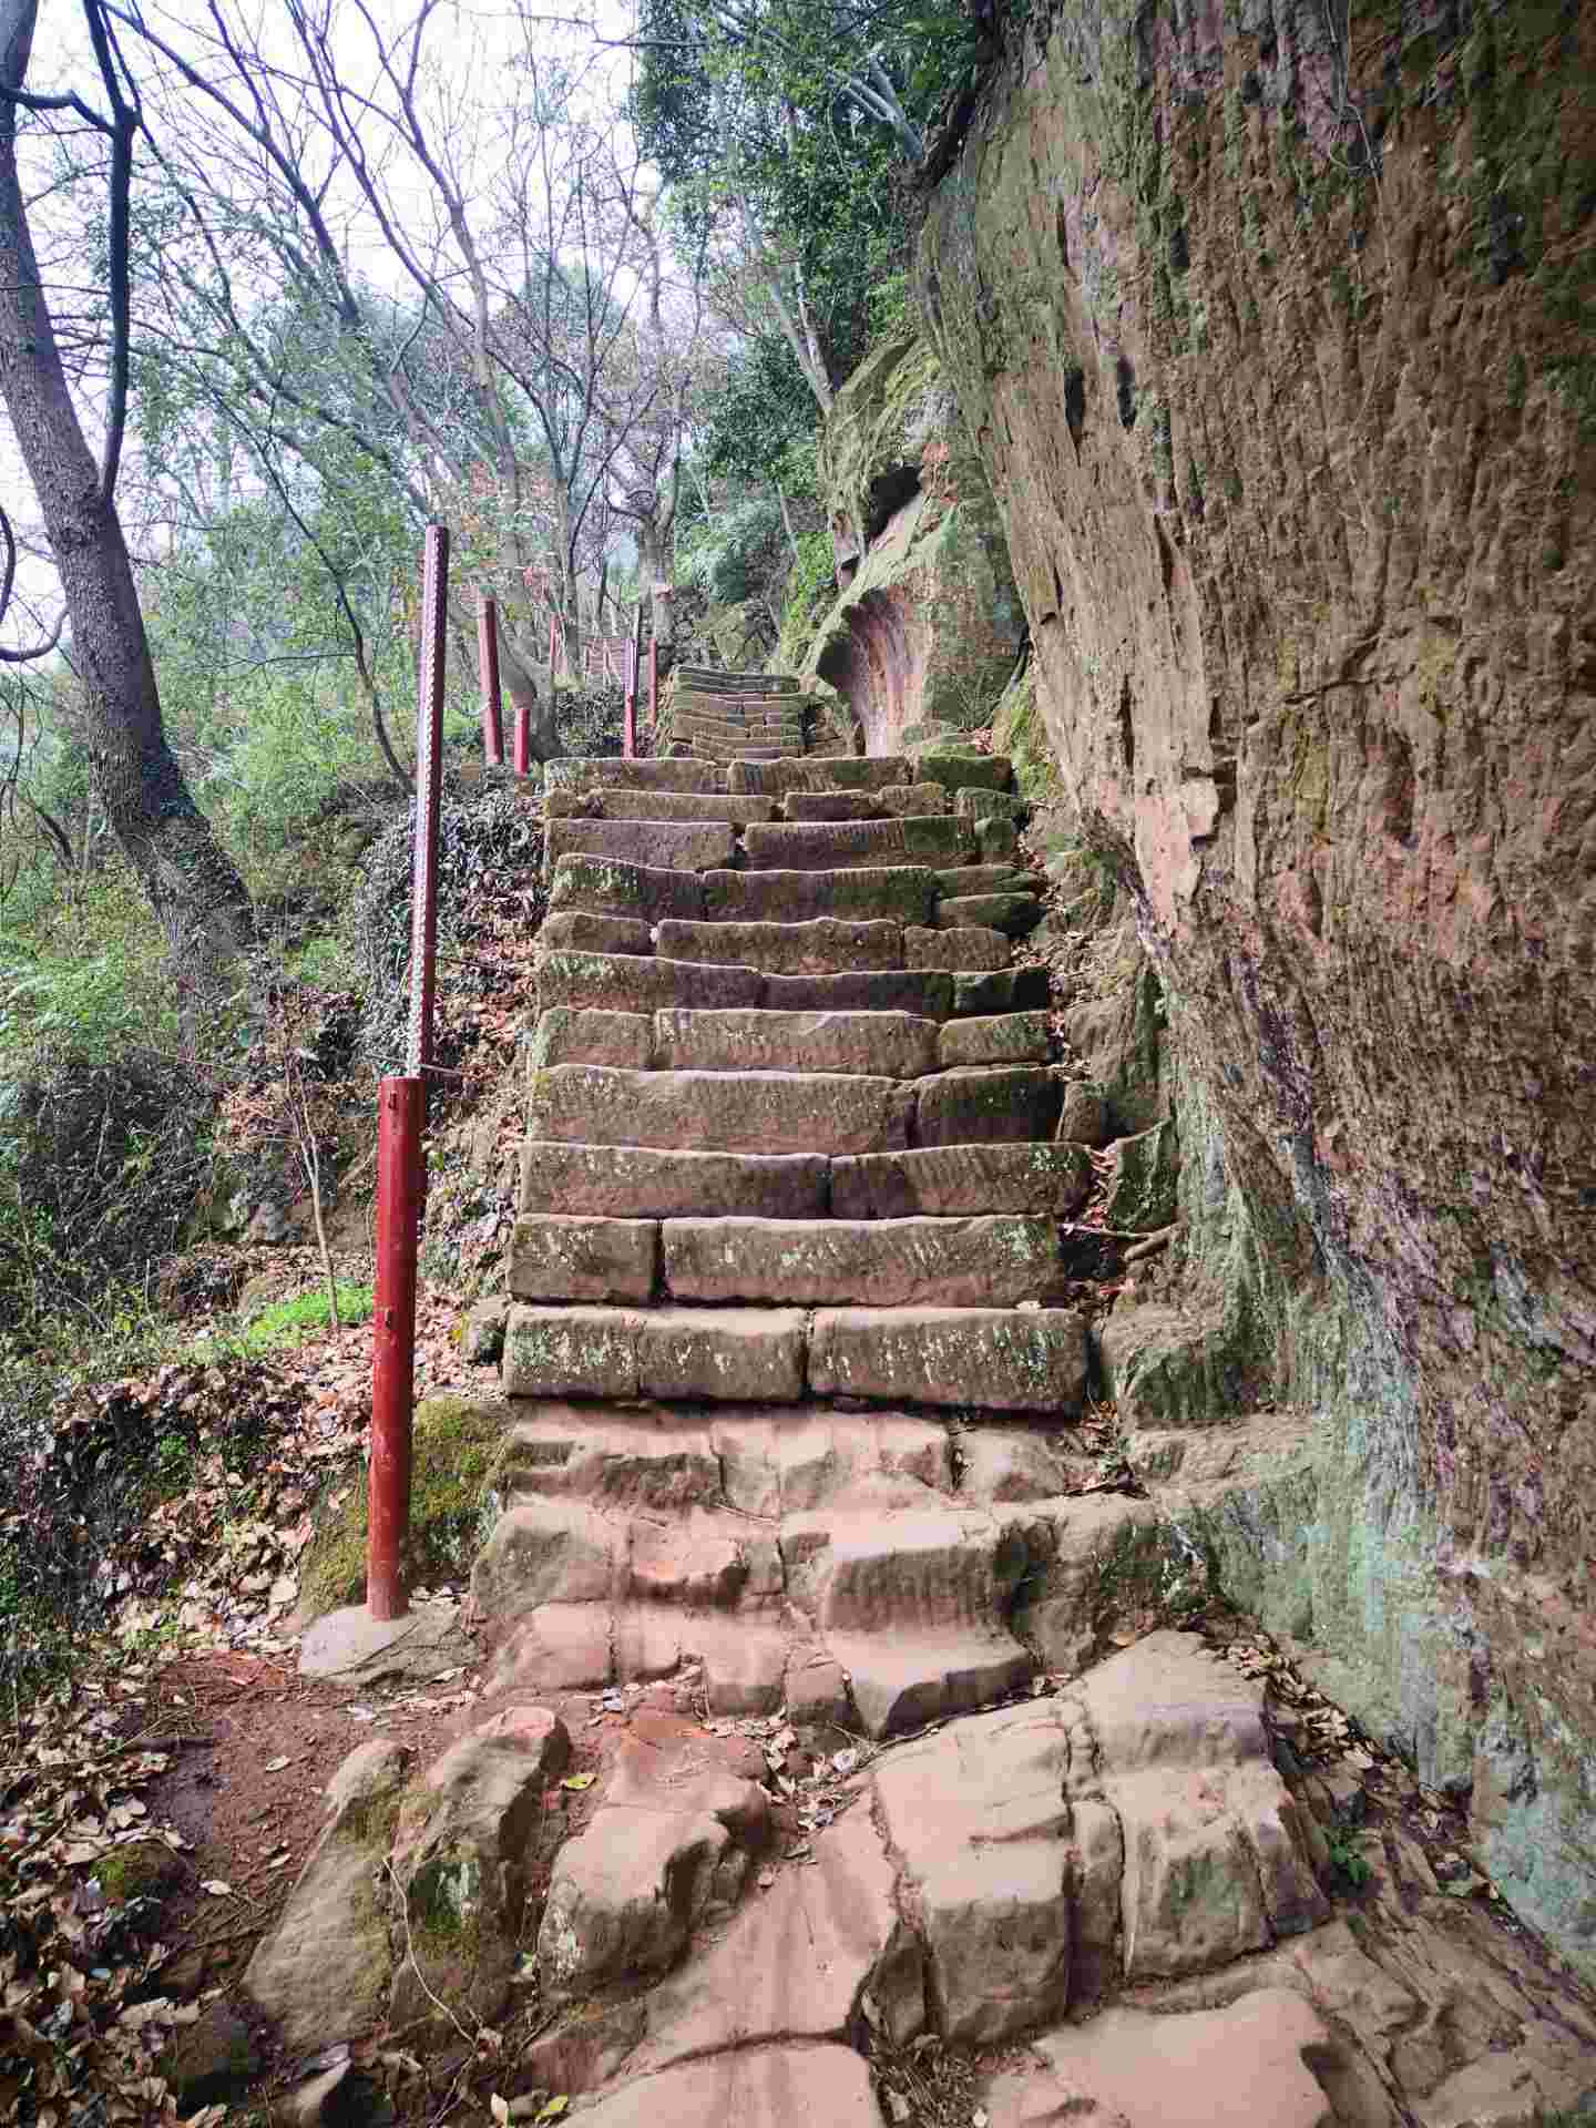
[[[1147,1502],[1079,1498],[1092,1166],[1011,966],[1009,762],[724,736],[800,741],[787,702],[694,675],[692,753],[549,766],[475,1596],[517,1688],[702,1664],[711,1713],[883,1736],[1075,1666],[1081,1592],[1168,1560]]]

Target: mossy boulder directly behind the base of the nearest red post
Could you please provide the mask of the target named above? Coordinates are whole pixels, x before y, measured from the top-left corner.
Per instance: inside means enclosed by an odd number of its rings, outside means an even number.
[[[411,1466],[411,1587],[464,1581],[498,1513],[492,1470],[509,1426],[494,1398],[428,1396],[415,1407]],[[300,1564],[298,1622],[366,1596],[366,1473],[323,1496],[315,1536]]]

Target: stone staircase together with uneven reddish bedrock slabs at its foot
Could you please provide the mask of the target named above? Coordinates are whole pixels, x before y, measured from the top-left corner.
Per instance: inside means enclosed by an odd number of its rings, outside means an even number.
[[[1590,2117],[1447,1798],[1092,1453],[1007,764],[700,738],[549,770],[492,1670],[328,1783],[255,2007],[589,2128]]]

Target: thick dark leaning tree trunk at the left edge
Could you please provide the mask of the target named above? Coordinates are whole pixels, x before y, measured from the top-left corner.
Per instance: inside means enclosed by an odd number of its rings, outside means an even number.
[[[0,0],[0,398],[62,572],[89,758],[106,819],[183,966],[253,938],[249,892],[162,730],[155,666],[115,502],[83,436],[38,279],[17,172],[17,104],[38,0]]]

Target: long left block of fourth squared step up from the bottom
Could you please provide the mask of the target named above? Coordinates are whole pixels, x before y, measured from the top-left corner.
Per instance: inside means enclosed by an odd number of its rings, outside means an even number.
[[[528,1134],[726,1153],[875,1153],[909,1143],[915,1085],[928,1083],[938,1081],[555,1064],[530,1083]]]

